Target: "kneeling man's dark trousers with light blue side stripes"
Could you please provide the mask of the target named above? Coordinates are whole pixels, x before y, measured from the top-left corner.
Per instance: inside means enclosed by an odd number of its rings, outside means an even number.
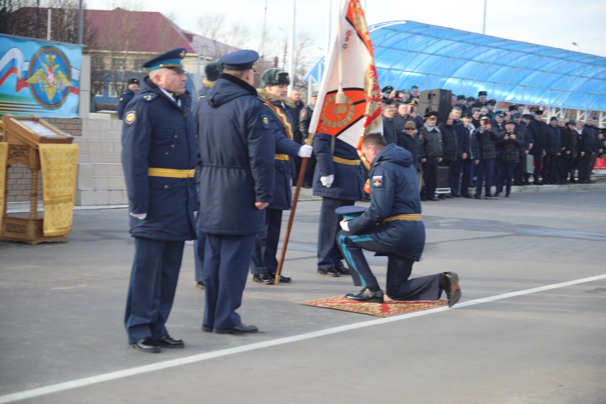
[[[378,286],[375,275],[368,267],[362,250],[387,255],[387,288],[385,293],[394,300],[438,300],[442,294],[439,285],[440,274],[408,279],[413,270],[414,261],[391,254],[388,248],[375,240],[370,234],[354,236],[348,231],[339,231],[337,242],[343,256],[349,264],[355,286]]]

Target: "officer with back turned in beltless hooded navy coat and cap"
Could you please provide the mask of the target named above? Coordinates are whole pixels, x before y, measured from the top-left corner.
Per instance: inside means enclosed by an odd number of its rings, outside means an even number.
[[[271,111],[253,87],[258,59],[253,50],[222,56],[223,72],[196,105],[202,207],[198,230],[206,234],[202,331],[208,333],[258,331],[236,313],[274,184]]]

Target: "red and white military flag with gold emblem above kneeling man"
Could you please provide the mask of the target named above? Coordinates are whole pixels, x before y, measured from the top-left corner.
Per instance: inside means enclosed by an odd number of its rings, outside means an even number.
[[[324,65],[311,133],[328,133],[358,150],[362,162],[362,137],[381,132],[381,99],[364,11],[358,0],[343,0],[335,41]],[[321,107],[318,107],[321,106]]]

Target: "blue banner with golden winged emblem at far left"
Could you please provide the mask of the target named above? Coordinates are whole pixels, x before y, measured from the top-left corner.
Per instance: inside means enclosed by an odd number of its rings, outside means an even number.
[[[0,114],[78,118],[82,47],[0,35]]]

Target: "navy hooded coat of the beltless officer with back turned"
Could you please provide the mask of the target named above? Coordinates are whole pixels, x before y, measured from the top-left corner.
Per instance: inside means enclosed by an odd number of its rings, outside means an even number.
[[[255,234],[271,202],[275,135],[255,88],[222,73],[196,104],[201,160],[199,228],[209,234]]]

